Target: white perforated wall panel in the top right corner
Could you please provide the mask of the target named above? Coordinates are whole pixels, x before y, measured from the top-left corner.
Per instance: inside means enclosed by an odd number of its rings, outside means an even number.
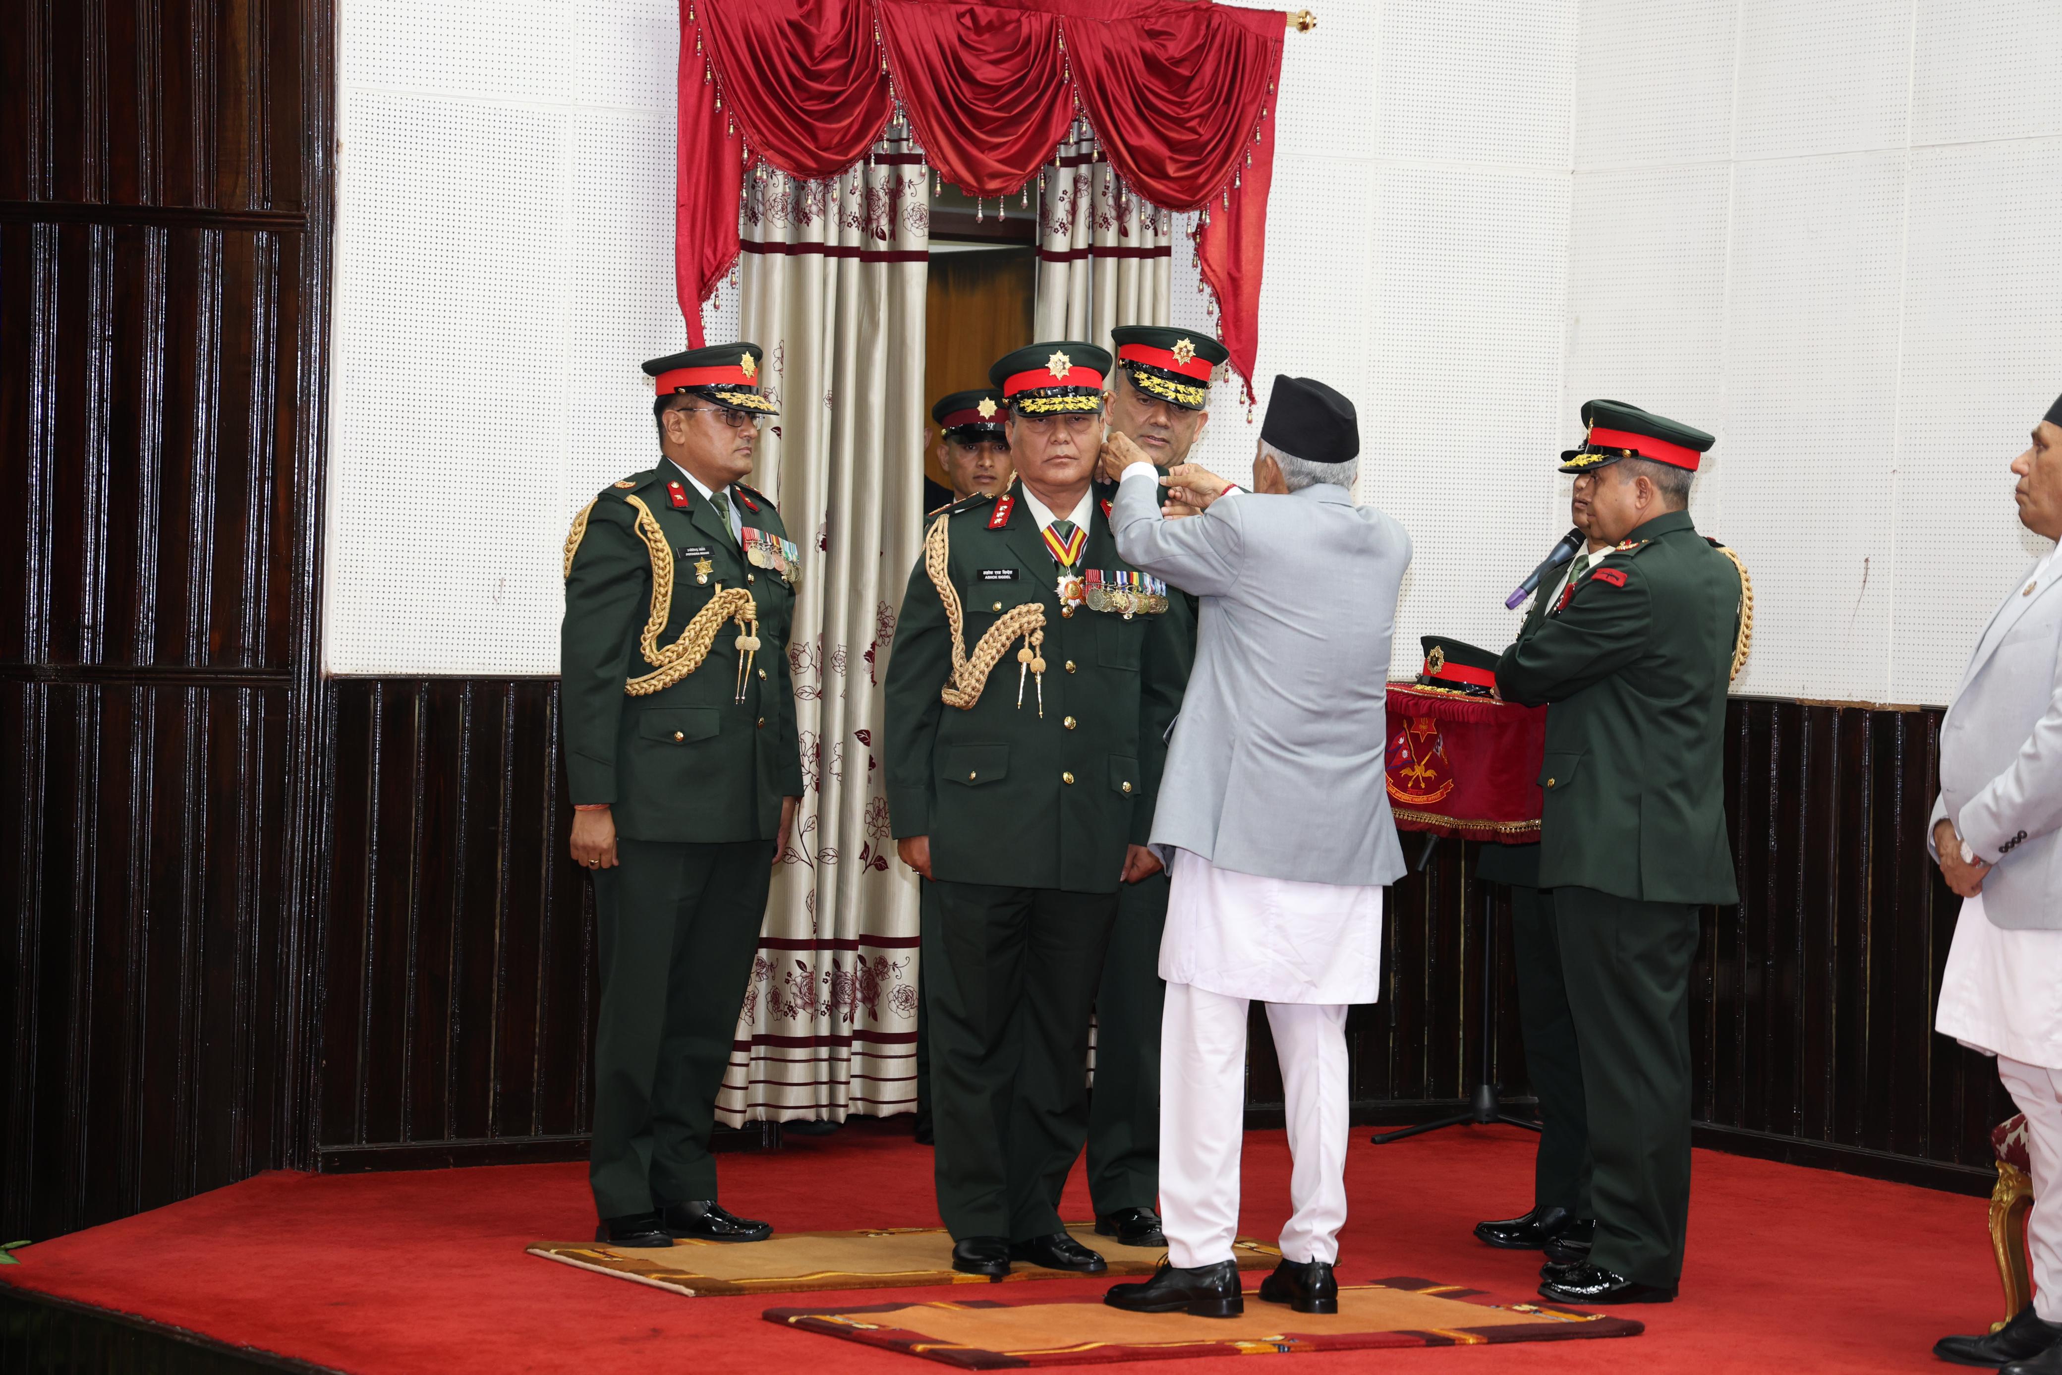
[[[1918,0],[1916,144],[2062,134],[2062,4]]]

